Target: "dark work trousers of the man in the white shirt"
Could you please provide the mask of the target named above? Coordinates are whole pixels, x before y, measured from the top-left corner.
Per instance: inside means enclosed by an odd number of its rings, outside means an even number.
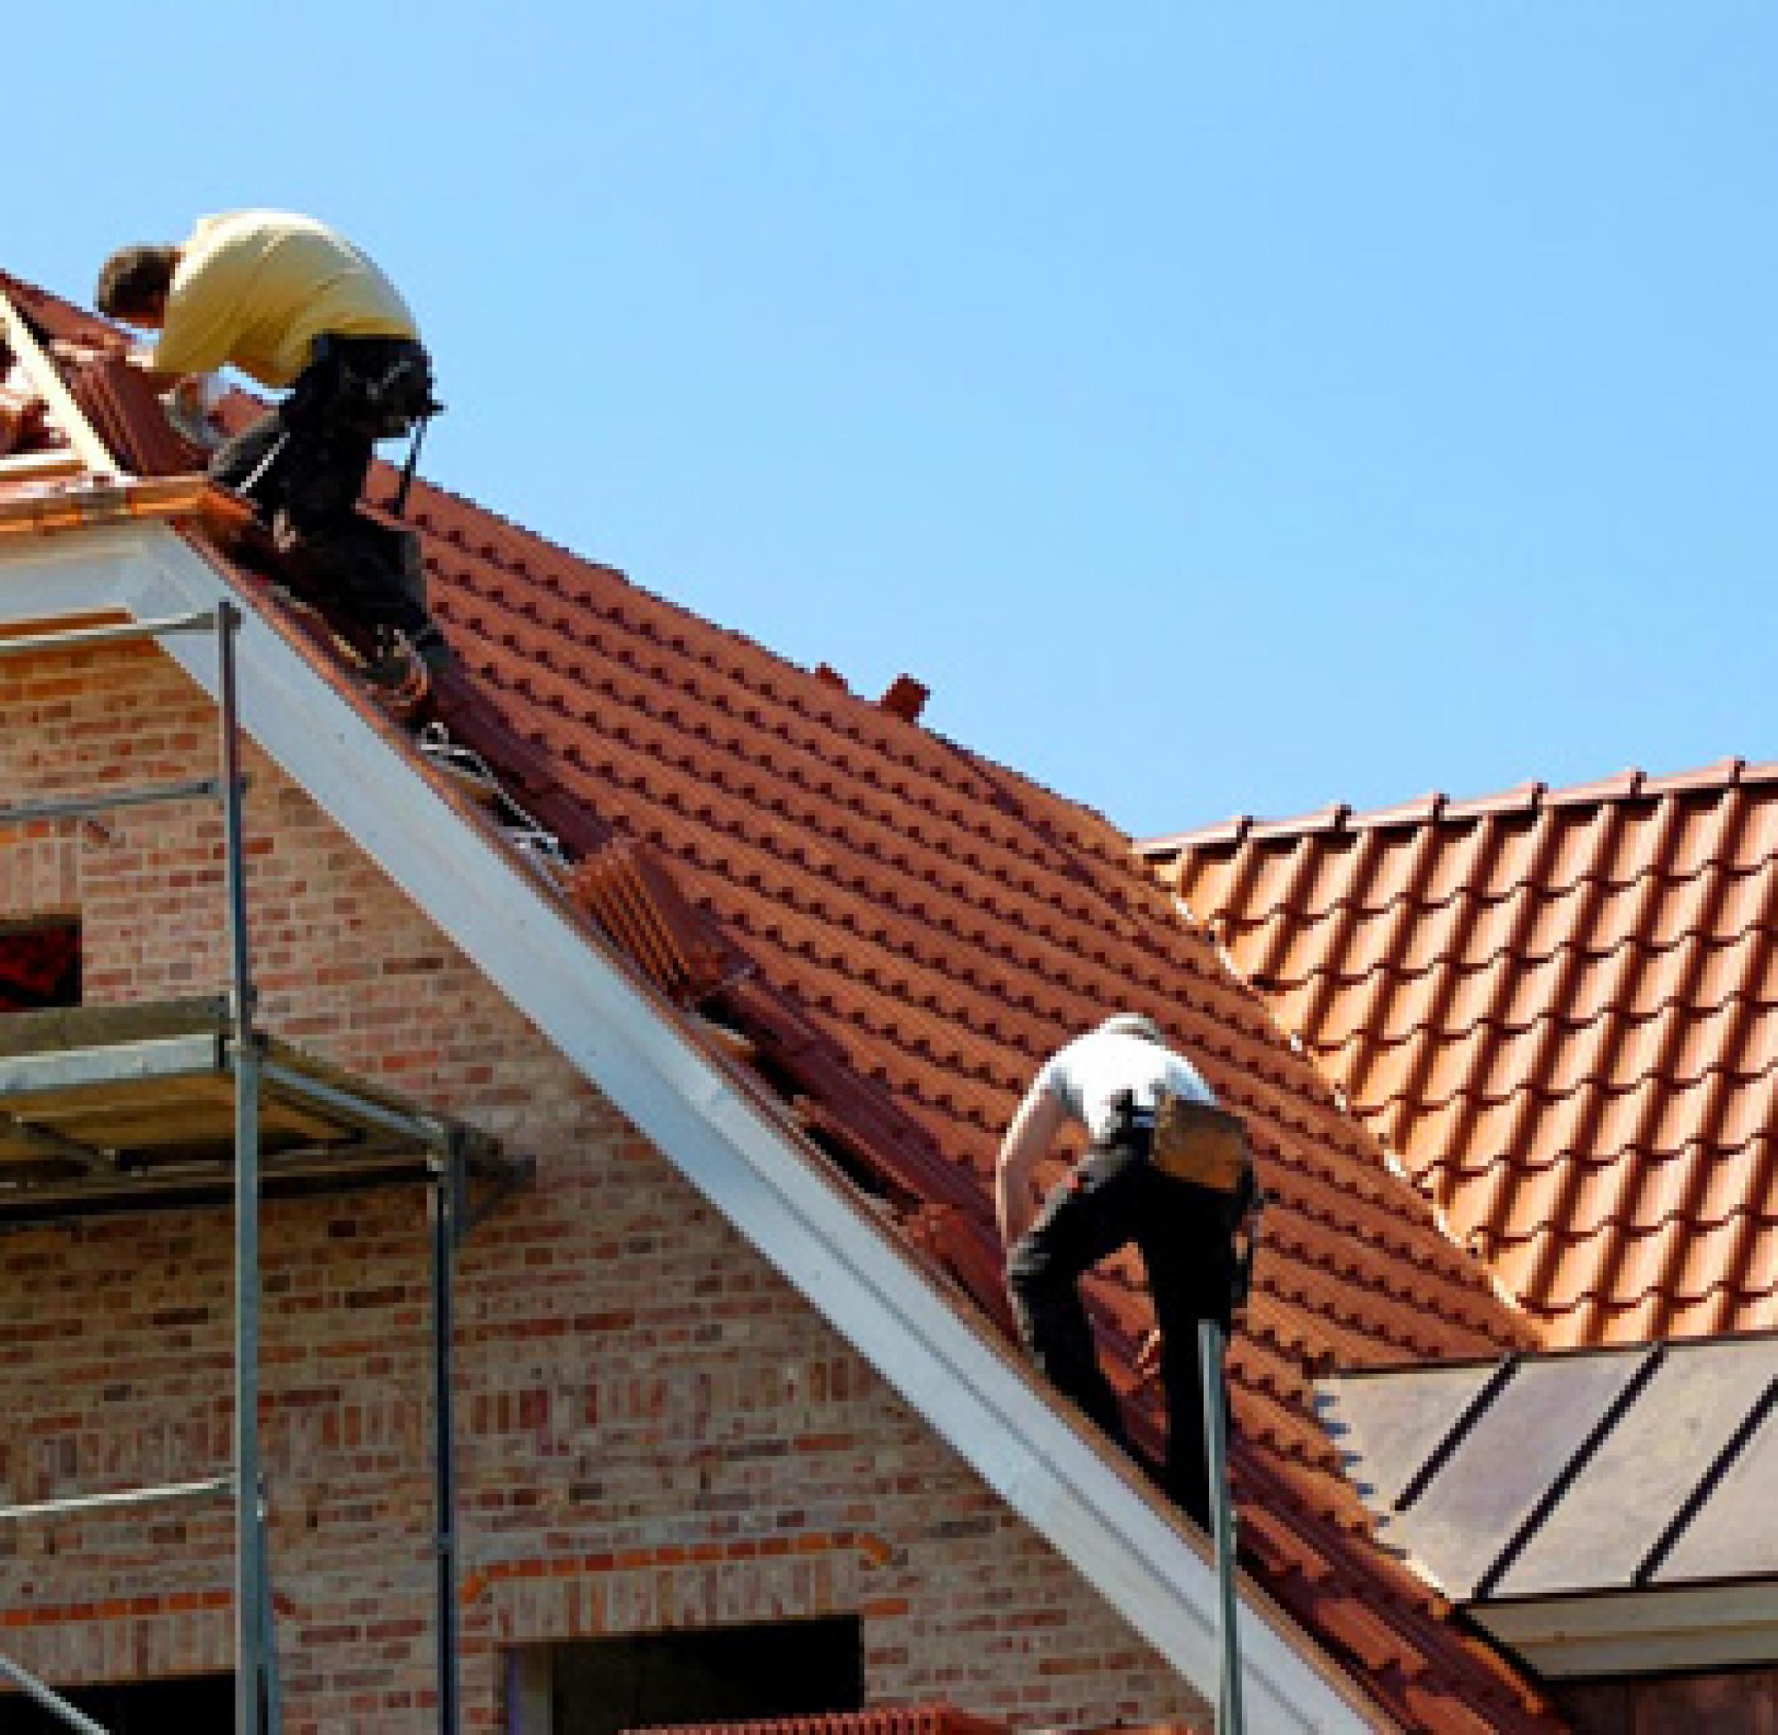
[[[1149,1273],[1161,1328],[1161,1381],[1166,1388],[1166,1468],[1170,1500],[1209,1527],[1209,1468],[1204,1456],[1204,1388],[1198,1321],[1229,1330],[1232,1237],[1220,1193],[1173,1180],[1149,1163],[1149,1134],[1134,1131],[1093,1145],[1019,1237],[1006,1260],[1019,1335],[1031,1358],[1065,1397],[1129,1451],[1117,1394],[1093,1349],[1079,1280],[1090,1266],[1136,1243]]]

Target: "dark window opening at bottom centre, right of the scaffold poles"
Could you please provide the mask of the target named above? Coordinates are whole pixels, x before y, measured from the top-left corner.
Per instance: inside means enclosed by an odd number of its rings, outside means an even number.
[[[845,1616],[551,1644],[548,1683],[535,1735],[862,1710],[864,1630]]]

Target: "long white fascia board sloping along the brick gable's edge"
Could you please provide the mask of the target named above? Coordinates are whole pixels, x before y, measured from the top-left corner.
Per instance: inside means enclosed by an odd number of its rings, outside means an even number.
[[[44,560],[53,553],[55,558]],[[139,619],[235,599],[165,526],[119,526],[0,556],[0,624],[123,606]],[[215,642],[164,642],[215,693]],[[1207,1699],[1216,1577],[1133,1481],[749,1097],[663,1003],[590,946],[251,608],[242,724],[597,1090],[839,1330],[965,1461]],[[249,804],[249,832],[252,812]],[[249,935],[252,910],[247,912]],[[1266,1731],[1392,1730],[1314,1641],[1241,1593],[1248,1717]]]

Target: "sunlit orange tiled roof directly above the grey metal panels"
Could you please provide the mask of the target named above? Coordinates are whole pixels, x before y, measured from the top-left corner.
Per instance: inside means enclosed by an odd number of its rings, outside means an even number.
[[[1143,848],[1549,1344],[1778,1324],[1778,764]]]

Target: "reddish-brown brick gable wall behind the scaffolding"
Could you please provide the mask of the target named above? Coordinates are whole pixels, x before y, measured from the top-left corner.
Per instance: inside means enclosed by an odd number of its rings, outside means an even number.
[[[0,663],[0,793],[213,770],[149,649]],[[1200,1715],[1184,1683],[258,754],[263,1022],[539,1159],[457,1287],[466,1726],[509,1648],[859,1614],[871,1703],[1019,1724]],[[222,983],[213,805],[0,834],[0,919],[78,912],[91,1001]],[[428,1241],[418,1193],[274,1203],[263,1429],[286,1728],[434,1726]],[[0,1493],[215,1474],[222,1212],[0,1239]],[[0,1648],[52,1682],[220,1669],[231,1509],[0,1532]]]

